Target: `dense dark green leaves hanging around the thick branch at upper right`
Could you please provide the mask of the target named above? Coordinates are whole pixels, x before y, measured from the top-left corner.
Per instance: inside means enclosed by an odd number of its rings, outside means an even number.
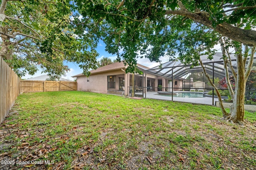
[[[244,29],[255,27],[255,10],[250,7],[255,3],[249,0],[179,3],[177,0],[76,0],[76,4],[78,13],[84,18],[79,29],[93,33],[90,39],[95,42],[102,39],[106,51],[124,59],[131,72],[138,57],[160,62],[160,57],[168,55],[174,59],[180,54],[186,58],[181,58],[184,63],[194,64],[198,53],[211,58],[213,52],[210,48],[219,37],[211,28],[218,24],[236,24]],[[170,15],[166,15],[167,11]],[[180,11],[186,15],[176,13]],[[190,54],[195,60],[189,59]]]

